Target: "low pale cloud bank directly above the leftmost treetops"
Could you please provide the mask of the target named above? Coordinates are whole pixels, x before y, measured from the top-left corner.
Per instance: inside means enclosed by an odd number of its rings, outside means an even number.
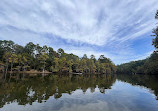
[[[22,31],[13,28],[10,29],[9,27],[5,27],[3,29],[0,28],[0,30],[0,38],[2,40],[12,40],[20,45],[26,45],[26,43],[28,42],[33,42],[35,44],[40,45],[50,44],[50,40],[48,38],[45,38],[44,36],[38,33],[33,33],[24,30]]]

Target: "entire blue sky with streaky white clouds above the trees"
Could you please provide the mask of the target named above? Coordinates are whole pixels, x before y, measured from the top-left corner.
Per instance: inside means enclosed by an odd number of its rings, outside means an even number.
[[[0,0],[0,40],[121,64],[153,52],[157,9],[158,0]]]

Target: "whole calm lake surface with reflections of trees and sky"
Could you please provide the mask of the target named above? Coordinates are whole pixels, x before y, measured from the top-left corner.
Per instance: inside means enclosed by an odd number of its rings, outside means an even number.
[[[0,111],[158,111],[157,99],[157,76],[14,76],[0,81]]]

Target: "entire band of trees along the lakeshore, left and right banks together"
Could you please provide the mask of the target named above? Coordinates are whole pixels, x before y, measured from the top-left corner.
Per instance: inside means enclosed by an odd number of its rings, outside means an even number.
[[[158,19],[158,11],[155,19]],[[150,74],[158,75],[158,26],[153,30],[155,51],[144,60],[115,65],[110,58],[86,54],[78,57],[59,48],[55,51],[46,45],[29,42],[25,46],[11,40],[0,40],[0,72],[10,76],[19,73],[74,73],[74,74]]]

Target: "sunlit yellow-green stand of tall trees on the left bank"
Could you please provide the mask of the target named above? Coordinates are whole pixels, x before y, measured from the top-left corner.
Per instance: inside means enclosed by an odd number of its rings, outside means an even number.
[[[40,46],[29,42],[25,46],[15,44],[13,41],[0,40],[0,66],[1,71],[45,71],[68,73],[101,73],[116,72],[116,67],[109,58],[101,55],[96,59],[86,54],[78,57],[67,54],[63,49],[55,51],[52,47]]]

